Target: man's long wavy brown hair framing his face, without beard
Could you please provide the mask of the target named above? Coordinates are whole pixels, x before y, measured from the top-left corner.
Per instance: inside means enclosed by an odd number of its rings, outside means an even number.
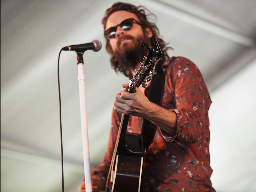
[[[155,37],[157,39],[157,42],[159,43],[161,50],[162,50],[161,59],[167,59],[169,57],[167,54],[167,50],[172,49],[172,48],[168,47],[167,46],[168,43],[166,43],[162,38],[160,38],[159,29],[157,28],[156,24],[148,21],[148,17],[150,15],[153,15],[155,18],[156,18],[156,16],[151,11],[149,11],[148,9],[146,9],[143,6],[136,7],[135,5],[132,5],[129,3],[122,3],[122,2],[117,2],[117,3],[113,4],[112,7],[107,9],[104,17],[102,18],[102,24],[104,25],[104,30],[106,28],[106,23],[107,23],[108,17],[112,13],[114,13],[116,11],[120,11],[120,10],[129,11],[129,12],[137,15],[141,22],[143,31],[145,31],[145,29],[148,27],[152,30],[153,36],[152,36],[152,38],[150,38],[150,43],[152,45],[152,48],[157,50],[157,46],[156,46],[156,43],[154,40],[154,37]],[[146,14],[146,12],[148,12],[148,14]],[[106,38],[106,50],[111,55],[110,62],[111,62],[112,67],[114,68],[115,72],[121,72],[125,76],[128,77],[129,71],[127,70],[127,68],[124,65],[120,65],[120,63],[113,56],[112,48],[110,46],[109,39],[107,39],[107,38]]]

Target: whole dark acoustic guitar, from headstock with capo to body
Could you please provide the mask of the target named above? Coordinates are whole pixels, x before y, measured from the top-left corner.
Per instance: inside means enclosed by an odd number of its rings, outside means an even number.
[[[156,74],[154,65],[162,55],[159,44],[156,41],[157,51],[150,48],[146,43],[149,52],[144,57],[143,63],[136,70],[136,74],[129,82],[130,93],[134,93],[140,85],[146,87],[146,81],[150,81],[151,74]],[[106,192],[140,192],[143,156],[146,150],[143,147],[141,134],[126,133],[129,115],[123,114],[118,130],[109,173],[106,181]]]

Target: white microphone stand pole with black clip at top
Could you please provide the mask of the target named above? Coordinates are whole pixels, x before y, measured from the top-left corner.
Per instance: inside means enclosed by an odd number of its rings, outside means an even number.
[[[85,190],[86,192],[92,192],[87,113],[86,113],[86,98],[85,98],[85,75],[84,75],[84,69],[83,69],[83,53],[84,52],[77,52],[77,65],[78,65],[77,80],[79,85],[80,113],[81,113],[81,125],[82,125]]]

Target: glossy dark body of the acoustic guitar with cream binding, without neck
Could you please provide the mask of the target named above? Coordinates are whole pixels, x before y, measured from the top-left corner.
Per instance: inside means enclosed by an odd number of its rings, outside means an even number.
[[[141,135],[126,133],[124,144],[118,147],[106,191],[140,192],[142,166]]]

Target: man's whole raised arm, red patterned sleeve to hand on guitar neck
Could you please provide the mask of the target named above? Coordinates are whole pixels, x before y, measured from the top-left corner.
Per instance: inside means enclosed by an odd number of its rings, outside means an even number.
[[[198,142],[205,128],[205,113],[210,97],[202,74],[190,60],[179,57],[166,70],[166,91],[174,108],[163,109],[151,102],[136,89],[135,93],[122,91],[116,95],[114,110],[147,118],[159,126],[166,141]],[[123,85],[125,87],[127,85]],[[168,100],[166,101],[168,102]]]

